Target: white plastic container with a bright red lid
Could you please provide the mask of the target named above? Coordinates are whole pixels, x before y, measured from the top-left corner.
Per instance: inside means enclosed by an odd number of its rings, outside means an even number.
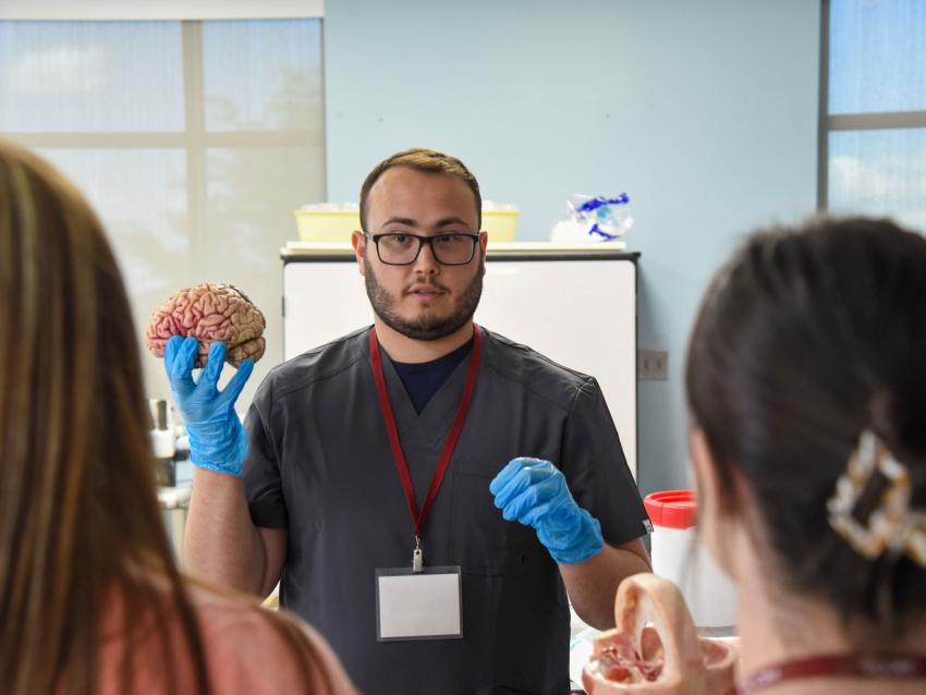
[[[697,627],[733,627],[736,587],[697,541],[694,492],[654,492],[646,496],[644,504],[653,522],[653,572],[679,586]]]

